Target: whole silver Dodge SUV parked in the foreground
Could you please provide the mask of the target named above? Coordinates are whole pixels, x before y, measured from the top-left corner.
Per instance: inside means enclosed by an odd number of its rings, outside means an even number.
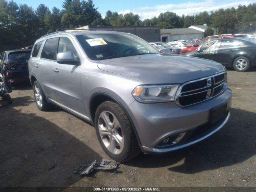
[[[100,145],[124,162],[207,138],[230,117],[225,68],[163,54],[132,34],[61,31],[42,36],[29,60],[36,105],[95,125]]]

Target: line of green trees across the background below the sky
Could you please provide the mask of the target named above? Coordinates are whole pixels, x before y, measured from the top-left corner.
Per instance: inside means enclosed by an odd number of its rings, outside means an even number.
[[[0,0],[0,51],[6,47],[20,48],[31,45],[47,32],[58,28],[80,26],[156,26],[160,28],[188,28],[191,25],[210,24],[218,34],[255,33],[256,4],[219,9],[210,14],[206,11],[195,16],[178,16],[173,12],[161,13],[152,19],[140,20],[138,14],[118,14],[108,10],[103,19],[92,0],[64,0],[62,10],[52,11],[44,4],[36,10],[26,4],[19,6],[13,1]],[[206,36],[212,35],[208,28]]]

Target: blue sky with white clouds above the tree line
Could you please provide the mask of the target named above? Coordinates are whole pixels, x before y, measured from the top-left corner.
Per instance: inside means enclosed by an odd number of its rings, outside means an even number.
[[[8,0],[10,1],[10,0]],[[64,0],[14,0],[18,5],[27,4],[36,9],[39,4],[45,4],[52,10],[55,6],[62,9]],[[203,11],[215,11],[220,8],[236,8],[239,4],[248,5],[256,0],[93,0],[95,7],[104,18],[108,10],[126,14],[132,12],[138,14],[141,20],[158,16],[161,12],[174,12],[179,16],[182,14],[196,15]]]

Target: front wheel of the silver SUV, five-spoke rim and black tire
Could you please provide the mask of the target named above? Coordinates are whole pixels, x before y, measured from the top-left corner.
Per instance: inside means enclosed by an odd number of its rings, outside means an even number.
[[[103,102],[95,112],[94,122],[100,145],[110,158],[125,162],[140,153],[131,122],[120,105]]]

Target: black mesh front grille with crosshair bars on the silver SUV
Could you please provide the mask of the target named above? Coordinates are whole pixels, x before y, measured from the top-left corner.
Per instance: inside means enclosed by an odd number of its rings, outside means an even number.
[[[208,100],[226,89],[225,72],[184,83],[178,92],[176,102],[185,107]]]

